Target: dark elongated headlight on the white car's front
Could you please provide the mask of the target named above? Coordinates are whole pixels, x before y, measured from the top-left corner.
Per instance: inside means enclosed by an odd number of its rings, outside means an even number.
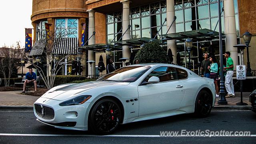
[[[87,100],[89,100],[89,98],[91,98],[92,96],[77,96],[75,98],[72,98],[70,100],[66,100],[65,102],[60,103],[60,106],[72,106],[72,105],[77,105],[77,104],[83,104],[84,102],[86,102]]]

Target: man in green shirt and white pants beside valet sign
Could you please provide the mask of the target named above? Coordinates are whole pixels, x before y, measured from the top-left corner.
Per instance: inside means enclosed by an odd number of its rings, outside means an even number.
[[[230,58],[230,52],[225,52],[225,58],[227,58],[227,67],[224,67],[223,69],[227,71],[225,76],[225,87],[228,92],[228,95],[226,97],[234,97],[234,84],[233,84],[233,70],[234,70],[234,62],[232,58]]]

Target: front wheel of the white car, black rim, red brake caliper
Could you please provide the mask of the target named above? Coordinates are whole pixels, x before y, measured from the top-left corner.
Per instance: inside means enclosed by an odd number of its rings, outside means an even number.
[[[116,101],[106,98],[97,102],[89,114],[89,129],[95,134],[111,134],[122,119],[120,106]]]

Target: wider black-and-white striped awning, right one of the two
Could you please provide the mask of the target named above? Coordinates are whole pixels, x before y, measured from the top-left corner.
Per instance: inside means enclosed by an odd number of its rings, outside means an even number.
[[[78,38],[56,38],[53,54],[77,54]]]

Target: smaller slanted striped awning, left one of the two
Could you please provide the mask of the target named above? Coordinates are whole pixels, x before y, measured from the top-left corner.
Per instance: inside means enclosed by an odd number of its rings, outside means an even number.
[[[46,44],[45,39],[36,40],[28,56],[42,55],[45,48],[45,44]]]

